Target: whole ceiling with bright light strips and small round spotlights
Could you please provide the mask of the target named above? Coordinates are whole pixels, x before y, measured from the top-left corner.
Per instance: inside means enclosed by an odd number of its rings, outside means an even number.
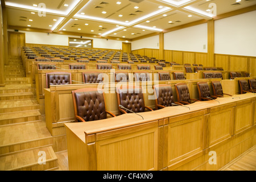
[[[256,0],[5,0],[9,26],[125,39],[209,20],[255,4]],[[206,11],[214,7],[216,11]]]

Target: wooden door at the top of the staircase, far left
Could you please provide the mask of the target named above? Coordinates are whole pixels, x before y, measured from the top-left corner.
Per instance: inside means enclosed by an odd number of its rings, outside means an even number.
[[[24,45],[24,33],[9,32],[9,56],[21,56],[22,47]]]

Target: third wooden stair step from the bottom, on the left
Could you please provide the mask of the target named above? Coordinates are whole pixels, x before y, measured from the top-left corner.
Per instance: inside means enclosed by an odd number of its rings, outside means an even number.
[[[10,125],[15,123],[38,121],[41,120],[41,113],[39,110],[19,111],[13,113],[1,113],[0,125]]]

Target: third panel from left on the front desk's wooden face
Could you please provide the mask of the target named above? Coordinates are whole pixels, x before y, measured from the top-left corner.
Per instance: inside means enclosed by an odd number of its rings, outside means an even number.
[[[230,138],[233,134],[234,107],[210,113],[208,122],[209,146]]]

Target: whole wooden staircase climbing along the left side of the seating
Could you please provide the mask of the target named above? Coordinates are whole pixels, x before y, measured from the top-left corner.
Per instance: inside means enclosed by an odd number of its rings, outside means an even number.
[[[0,170],[58,169],[54,139],[19,57],[5,65],[5,83],[0,87]]]

